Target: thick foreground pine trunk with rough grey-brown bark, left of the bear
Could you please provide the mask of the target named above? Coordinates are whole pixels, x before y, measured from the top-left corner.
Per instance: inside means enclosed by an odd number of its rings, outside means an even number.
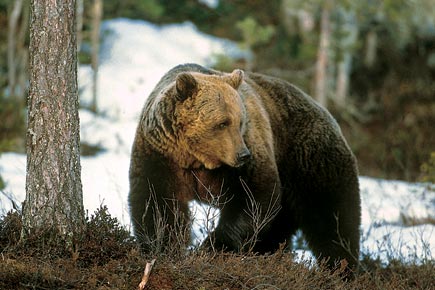
[[[51,230],[71,241],[84,225],[75,8],[31,1],[23,237]]]

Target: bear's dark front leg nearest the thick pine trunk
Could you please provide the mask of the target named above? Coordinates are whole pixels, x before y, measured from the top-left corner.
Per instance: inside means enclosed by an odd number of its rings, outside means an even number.
[[[129,205],[135,236],[146,253],[162,252],[172,241],[190,238],[180,239],[190,233],[185,230],[189,209],[174,196],[174,181],[168,178],[174,174],[168,164],[161,155],[146,154],[143,146],[133,147]]]

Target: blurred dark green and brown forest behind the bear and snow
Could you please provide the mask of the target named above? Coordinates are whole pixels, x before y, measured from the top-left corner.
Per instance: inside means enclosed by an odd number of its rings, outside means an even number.
[[[83,5],[81,63],[93,62],[92,38],[104,37],[93,33],[98,21],[191,21],[249,51],[236,59],[217,56],[215,68],[284,78],[327,106],[362,175],[435,181],[431,0],[97,0],[78,5]],[[0,154],[25,152],[28,19],[28,1],[0,0]]]

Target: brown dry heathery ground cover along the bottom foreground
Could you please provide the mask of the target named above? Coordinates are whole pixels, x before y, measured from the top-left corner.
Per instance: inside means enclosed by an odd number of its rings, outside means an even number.
[[[43,235],[19,241],[20,229],[18,213],[0,219],[0,289],[137,289],[152,258],[145,289],[435,289],[434,261],[382,267],[365,258],[364,270],[345,281],[340,271],[307,267],[282,250],[260,256],[179,248],[147,256],[105,208],[88,219],[75,250],[47,245]]]

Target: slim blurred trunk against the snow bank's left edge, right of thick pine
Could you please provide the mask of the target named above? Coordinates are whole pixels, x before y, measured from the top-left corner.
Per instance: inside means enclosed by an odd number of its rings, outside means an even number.
[[[92,55],[91,67],[94,72],[92,77],[92,105],[91,110],[97,112],[97,86],[98,86],[98,54],[100,52],[100,25],[103,16],[103,0],[94,0],[92,16]]]

